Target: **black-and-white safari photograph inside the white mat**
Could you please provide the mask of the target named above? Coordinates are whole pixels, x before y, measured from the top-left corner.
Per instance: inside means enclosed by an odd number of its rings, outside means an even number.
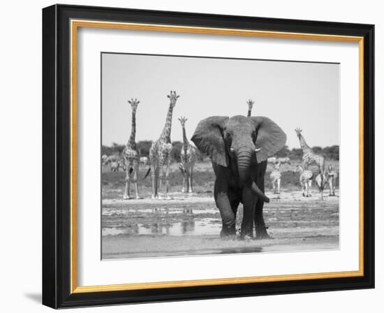
[[[101,259],[339,249],[340,64],[101,53]]]

